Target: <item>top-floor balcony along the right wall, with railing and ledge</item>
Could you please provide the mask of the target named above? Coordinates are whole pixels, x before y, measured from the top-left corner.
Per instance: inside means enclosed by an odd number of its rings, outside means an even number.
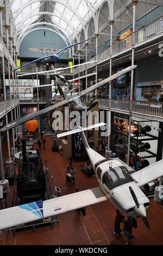
[[[132,47],[138,48],[143,45],[147,46],[150,42],[160,39],[161,36],[163,36],[163,16],[127,36],[123,40],[116,42],[112,47],[108,47],[104,51],[98,53],[95,56],[97,65],[109,60],[110,56],[115,58],[120,56],[120,54],[131,51]],[[95,65],[96,63],[90,63],[86,66],[79,66],[74,69],[74,75],[77,75],[79,72],[85,71],[86,69],[93,68]]]

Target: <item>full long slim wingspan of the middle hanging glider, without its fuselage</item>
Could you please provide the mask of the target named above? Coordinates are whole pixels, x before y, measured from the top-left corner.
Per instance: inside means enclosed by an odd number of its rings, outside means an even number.
[[[116,79],[117,77],[120,77],[124,74],[126,74],[127,72],[131,71],[131,70],[134,70],[136,68],[137,65],[133,65],[133,66],[129,66],[128,68],[126,69],[123,69],[121,71],[118,71],[116,74],[112,75],[112,76],[109,76],[107,78],[105,78],[104,80],[102,80],[101,82],[98,82],[96,84],[94,84],[93,86],[83,90],[81,93],[79,93],[79,96],[84,96],[85,94],[87,93],[90,93],[92,92],[92,90],[95,90],[97,89],[98,87],[101,87],[101,86],[104,86],[104,84],[108,83],[108,82],[111,82],[112,80]],[[77,97],[77,96],[75,96]],[[65,105],[66,103],[68,102],[71,102],[73,100],[73,96],[70,96],[69,99],[66,99],[66,100],[63,100],[61,102],[58,102],[52,106],[49,106],[45,109],[42,109],[40,111],[37,111],[35,113],[30,113],[28,115],[25,115],[24,117],[20,118],[20,119],[17,119],[15,121],[13,121],[12,123],[9,123],[8,125],[5,125],[1,130],[0,132],[4,132],[4,131],[7,131],[7,130],[10,130],[18,125],[21,125],[23,123],[26,123],[26,121],[29,121],[31,119],[34,119],[36,117],[39,117],[40,115],[42,114],[45,114],[57,107],[60,107],[60,106],[63,106]]]

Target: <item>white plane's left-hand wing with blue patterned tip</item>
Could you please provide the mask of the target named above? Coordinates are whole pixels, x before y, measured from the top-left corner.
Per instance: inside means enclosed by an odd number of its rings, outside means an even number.
[[[108,200],[99,187],[0,210],[0,230]]]

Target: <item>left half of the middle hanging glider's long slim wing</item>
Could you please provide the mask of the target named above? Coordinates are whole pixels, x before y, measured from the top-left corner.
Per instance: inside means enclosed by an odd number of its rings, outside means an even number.
[[[65,105],[65,104],[69,103],[69,102],[70,102],[70,100],[68,100],[68,99],[62,100],[62,101],[60,101],[60,102],[58,102],[58,103],[55,103],[55,104],[52,105],[52,106],[49,106],[49,107],[44,108],[44,109],[41,109],[40,111],[37,111],[37,112],[33,112],[33,113],[29,113],[29,114],[27,114],[27,115],[24,115],[24,117],[21,117],[21,118],[19,118],[19,119],[16,119],[16,120],[14,120],[12,123],[9,123],[8,125],[5,125],[5,126],[0,130],[0,132],[8,131],[8,130],[10,130],[10,129],[12,129],[12,128],[18,126],[18,125],[21,125],[21,124],[23,124],[23,123],[26,123],[26,122],[29,121],[29,120],[32,120],[32,119],[34,119],[34,118],[36,118],[36,117],[39,117],[40,115],[45,114],[45,113],[47,113],[47,112],[49,112],[49,111],[51,111],[51,110],[53,110],[53,109],[55,109],[55,108],[58,108],[58,107],[60,107],[60,106],[63,106],[63,105]]]

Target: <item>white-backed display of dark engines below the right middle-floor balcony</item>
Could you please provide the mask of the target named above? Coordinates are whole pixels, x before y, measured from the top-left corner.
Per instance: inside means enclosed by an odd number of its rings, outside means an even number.
[[[114,117],[112,131],[112,150],[126,161],[128,152],[129,121]],[[138,170],[156,162],[159,136],[159,122],[153,120],[132,119],[130,138],[130,166]]]

